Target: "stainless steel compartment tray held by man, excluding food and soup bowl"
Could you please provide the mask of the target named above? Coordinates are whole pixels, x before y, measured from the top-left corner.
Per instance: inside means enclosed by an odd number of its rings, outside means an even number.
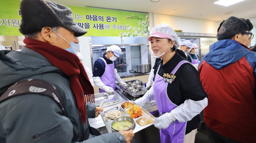
[[[136,105],[136,103],[133,102],[133,101],[128,101],[128,102],[126,102],[126,103],[132,103],[133,105]],[[112,128],[112,124],[114,124],[114,123],[113,123],[114,120],[109,120],[109,119],[106,119],[106,117],[105,117],[106,113],[108,113],[109,111],[113,111],[113,110],[121,111],[121,112],[122,112],[122,116],[120,117],[120,119],[126,118],[126,117],[129,117],[129,118],[127,118],[127,119],[132,119],[132,120],[133,120],[133,123],[134,123],[133,127],[131,127],[132,130],[133,130],[133,131],[132,131],[133,133],[136,133],[136,132],[138,132],[138,131],[140,131],[140,130],[143,130],[144,128],[147,128],[147,127],[151,126],[151,125],[153,124],[153,122],[156,120],[156,118],[155,118],[153,115],[151,115],[149,112],[147,112],[147,111],[144,110],[143,108],[142,108],[142,116],[133,119],[133,118],[131,118],[131,117],[129,116],[129,114],[127,113],[127,111],[128,111],[130,108],[129,108],[129,107],[127,107],[127,108],[122,108],[121,106],[122,106],[122,103],[119,103],[119,104],[116,104],[116,105],[114,105],[114,106],[112,106],[112,107],[104,108],[103,111],[100,111],[100,112],[99,112],[99,114],[101,115],[101,117],[102,117],[102,119],[103,119],[104,124],[106,125],[106,128],[107,128],[108,132],[116,132],[116,131],[117,131],[117,130],[114,130],[114,129]],[[125,113],[125,114],[123,114],[123,113]],[[147,116],[147,117],[146,117],[147,119],[146,119],[146,118],[144,119],[144,116]],[[142,119],[141,119],[141,118],[142,118]],[[119,119],[116,118],[116,120],[119,120]],[[153,122],[152,122],[152,120],[153,120]],[[146,121],[146,123],[145,123],[145,121]],[[150,122],[148,122],[148,121],[150,121]],[[116,121],[115,121],[115,122],[116,122]],[[143,123],[144,123],[144,124],[143,124]],[[142,125],[143,125],[143,126],[142,126]]]

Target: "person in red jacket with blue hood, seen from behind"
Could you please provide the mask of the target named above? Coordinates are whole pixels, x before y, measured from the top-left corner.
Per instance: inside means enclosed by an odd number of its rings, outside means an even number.
[[[199,63],[208,94],[204,120],[211,143],[252,143],[256,140],[256,53],[249,19],[229,17],[217,30],[217,41]]]

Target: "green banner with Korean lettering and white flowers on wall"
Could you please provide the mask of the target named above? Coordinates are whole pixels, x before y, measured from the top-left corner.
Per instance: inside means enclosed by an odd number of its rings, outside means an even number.
[[[19,0],[0,0],[0,35],[19,36]],[[147,37],[148,13],[66,5],[76,24],[88,31],[84,36]]]

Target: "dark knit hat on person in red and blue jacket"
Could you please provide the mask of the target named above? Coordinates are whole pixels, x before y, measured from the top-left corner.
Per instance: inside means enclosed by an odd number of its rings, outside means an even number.
[[[217,40],[230,39],[241,32],[251,31],[252,28],[253,25],[249,19],[245,20],[231,16],[219,24],[219,28],[217,30]]]

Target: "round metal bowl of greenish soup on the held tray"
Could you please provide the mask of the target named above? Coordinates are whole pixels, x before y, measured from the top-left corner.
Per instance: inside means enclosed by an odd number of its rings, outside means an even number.
[[[116,125],[117,122],[127,122],[127,121],[130,122],[131,125],[126,128],[118,128],[118,125]],[[117,126],[117,127],[115,127],[115,126]],[[127,126],[127,125],[125,125],[125,126]],[[133,126],[134,126],[134,120],[128,116],[116,118],[115,120],[113,120],[113,122],[111,124],[111,127],[114,131],[128,131],[128,130],[131,130],[133,128]]]

